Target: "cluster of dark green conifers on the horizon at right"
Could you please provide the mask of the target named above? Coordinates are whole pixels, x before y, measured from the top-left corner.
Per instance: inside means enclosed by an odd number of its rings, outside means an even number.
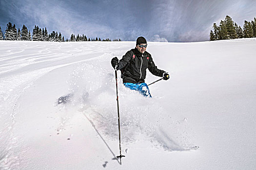
[[[231,17],[226,16],[224,21],[220,20],[219,26],[216,23],[213,24],[209,37],[210,41],[256,37],[256,18],[251,22],[245,20],[242,29]]]

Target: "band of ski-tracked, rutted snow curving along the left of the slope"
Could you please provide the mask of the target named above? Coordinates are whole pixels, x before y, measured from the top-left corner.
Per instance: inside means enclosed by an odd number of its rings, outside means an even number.
[[[23,43],[23,45],[21,43],[16,48],[0,48],[0,51],[6,50],[0,56],[0,100],[2,101],[0,104],[0,117],[1,120],[4,120],[4,124],[0,126],[0,143],[4,143],[4,145],[1,145],[4,148],[0,148],[0,167],[3,169],[8,169],[8,167],[11,167],[11,169],[18,168],[20,164],[20,151],[17,152],[16,150],[17,147],[20,147],[19,145],[21,143],[18,142],[20,140],[19,136],[13,135],[13,126],[16,122],[16,109],[19,108],[20,96],[40,77],[54,69],[94,60],[102,56],[96,55],[92,58],[89,57],[89,59],[82,59],[81,57],[78,61],[75,60],[75,62],[69,63],[65,59],[73,55],[79,57],[93,52],[81,52],[84,49],[80,50],[79,48],[74,48],[74,46],[62,47],[61,43],[42,43],[37,46],[31,44],[32,47],[26,45],[30,42]],[[71,48],[72,50],[67,51],[66,54],[59,52],[67,48]],[[97,51],[94,52],[96,53]],[[58,63],[58,61],[60,62]],[[57,64],[52,64],[51,62],[57,62]],[[43,67],[40,68],[41,65]],[[10,76],[8,76],[9,74]]]

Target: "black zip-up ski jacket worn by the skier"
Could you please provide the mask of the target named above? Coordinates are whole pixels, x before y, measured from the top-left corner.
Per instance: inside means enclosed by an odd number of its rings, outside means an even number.
[[[123,83],[144,83],[147,68],[152,74],[159,77],[162,77],[165,72],[155,66],[150,53],[145,51],[142,54],[137,48],[126,52],[117,67],[117,69],[123,70]]]

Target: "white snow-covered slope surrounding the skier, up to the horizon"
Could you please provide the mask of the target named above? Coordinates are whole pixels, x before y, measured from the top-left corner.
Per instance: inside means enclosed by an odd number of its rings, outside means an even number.
[[[256,39],[148,44],[171,78],[149,99],[118,72],[120,165],[110,60],[135,42],[0,41],[0,170],[255,170]]]

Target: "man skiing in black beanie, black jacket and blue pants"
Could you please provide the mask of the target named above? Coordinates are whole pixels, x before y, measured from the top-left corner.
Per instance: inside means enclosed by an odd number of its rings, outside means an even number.
[[[121,78],[123,84],[132,89],[137,90],[146,97],[151,97],[148,85],[145,83],[146,69],[164,80],[169,79],[169,74],[157,68],[151,54],[146,51],[147,41],[140,36],[136,41],[136,48],[127,51],[122,59],[118,62],[118,58],[114,57],[111,60],[112,67],[121,70]]]

